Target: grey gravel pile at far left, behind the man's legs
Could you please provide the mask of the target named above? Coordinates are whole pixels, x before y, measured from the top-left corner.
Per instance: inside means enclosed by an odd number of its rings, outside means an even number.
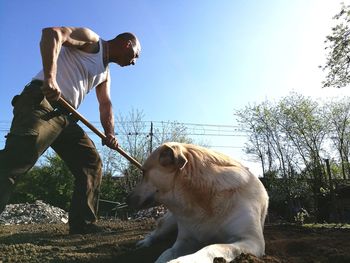
[[[68,213],[61,208],[37,200],[34,204],[9,204],[0,214],[0,224],[67,223]]]

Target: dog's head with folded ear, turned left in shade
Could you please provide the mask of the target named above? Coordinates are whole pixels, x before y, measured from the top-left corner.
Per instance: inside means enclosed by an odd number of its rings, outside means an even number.
[[[127,203],[134,208],[166,204],[167,196],[174,189],[176,176],[186,166],[187,159],[182,147],[166,143],[157,148],[142,166],[142,181],[128,196]]]

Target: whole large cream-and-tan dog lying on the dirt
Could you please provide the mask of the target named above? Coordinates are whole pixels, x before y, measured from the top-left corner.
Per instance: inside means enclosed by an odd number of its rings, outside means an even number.
[[[164,204],[169,212],[138,245],[147,247],[178,230],[160,262],[228,262],[241,253],[262,256],[268,195],[247,168],[203,147],[166,143],[143,165],[143,179],[128,204]]]

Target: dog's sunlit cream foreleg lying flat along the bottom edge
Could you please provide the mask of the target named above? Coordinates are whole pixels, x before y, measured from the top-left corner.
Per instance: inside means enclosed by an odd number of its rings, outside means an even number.
[[[224,258],[227,262],[230,262],[241,253],[262,256],[264,254],[264,242],[245,240],[233,244],[209,245],[196,253],[176,258],[169,261],[169,263],[212,263],[216,257]]]

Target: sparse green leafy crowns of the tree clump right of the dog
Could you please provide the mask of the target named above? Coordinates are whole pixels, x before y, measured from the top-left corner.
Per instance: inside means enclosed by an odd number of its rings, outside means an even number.
[[[246,152],[261,161],[264,174],[275,170],[287,178],[310,163],[323,172],[320,153],[328,122],[316,101],[291,93],[276,103],[246,106],[236,115],[249,136]]]

